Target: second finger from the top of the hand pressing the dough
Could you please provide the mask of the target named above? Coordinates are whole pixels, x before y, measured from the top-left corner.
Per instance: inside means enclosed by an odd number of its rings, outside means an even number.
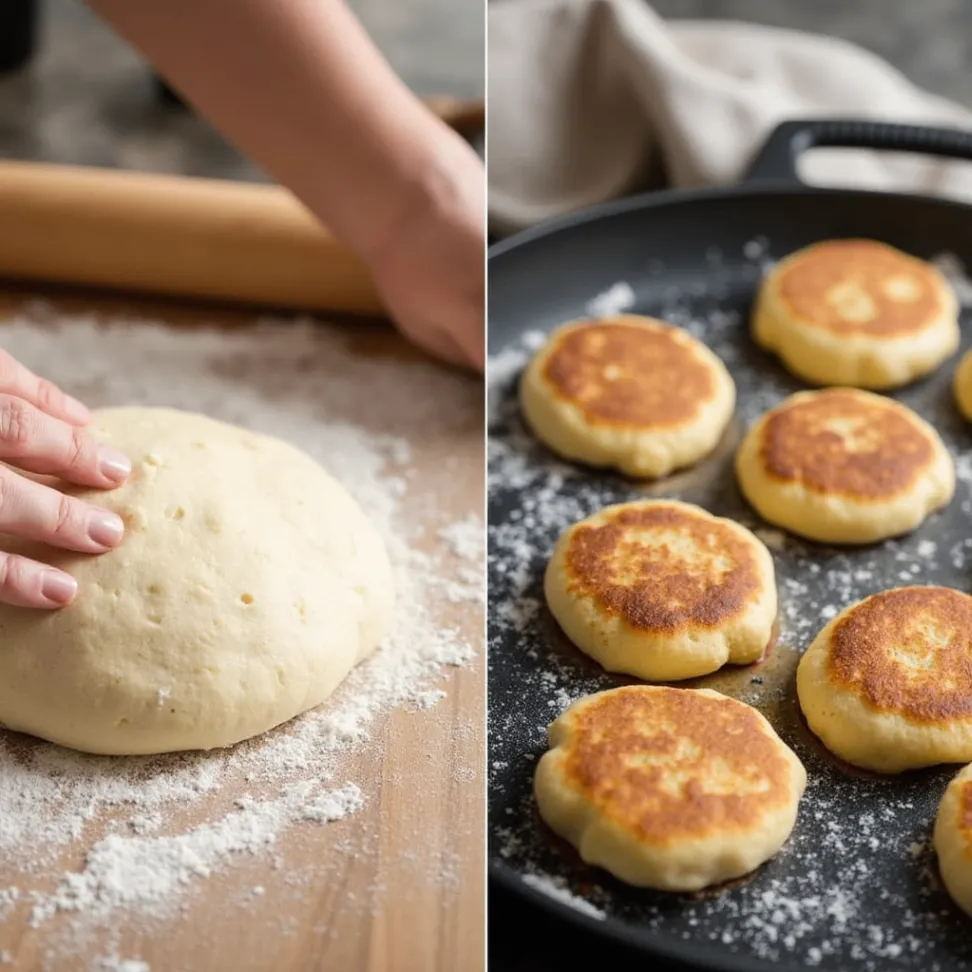
[[[100,489],[120,486],[132,470],[126,456],[98,443],[80,426],[5,394],[0,394],[0,459]]]

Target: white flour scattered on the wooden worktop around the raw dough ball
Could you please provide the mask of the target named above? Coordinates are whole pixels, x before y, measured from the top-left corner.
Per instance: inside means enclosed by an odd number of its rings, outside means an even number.
[[[371,778],[344,776],[344,754],[368,742],[386,710],[434,705],[445,694],[434,687],[443,668],[473,658],[474,646],[436,617],[447,602],[481,617],[478,521],[444,524],[419,547],[426,530],[413,510],[441,508],[450,473],[420,489],[393,467],[410,461],[429,429],[475,429],[478,396],[423,363],[362,360],[340,332],[308,321],[175,331],[140,320],[60,320],[38,306],[2,337],[16,358],[92,406],[168,405],[293,441],[358,499],[395,567],[397,623],[386,643],[328,704],[260,739],[221,753],[112,759],[0,734],[0,859],[18,874],[17,887],[0,888],[0,917],[26,906],[34,926],[58,912],[79,928],[131,920],[113,917],[121,908],[164,918],[200,881],[235,857],[271,850],[287,828],[359,810]],[[444,596],[443,578],[459,571],[464,588]],[[160,704],[168,691],[159,688]],[[244,795],[220,810],[233,793]],[[60,870],[71,848],[83,862]],[[148,966],[110,957],[99,968]]]

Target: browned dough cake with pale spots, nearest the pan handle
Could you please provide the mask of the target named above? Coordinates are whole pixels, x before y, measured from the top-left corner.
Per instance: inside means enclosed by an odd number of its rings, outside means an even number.
[[[896,388],[956,352],[958,313],[930,264],[873,240],[831,240],[767,275],[752,329],[812,384]]]

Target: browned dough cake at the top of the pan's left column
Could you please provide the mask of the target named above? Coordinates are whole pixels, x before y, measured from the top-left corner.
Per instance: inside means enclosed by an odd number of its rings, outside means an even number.
[[[528,424],[554,452],[654,479],[715,448],[736,388],[690,334],[621,316],[555,331],[527,366],[520,398]]]

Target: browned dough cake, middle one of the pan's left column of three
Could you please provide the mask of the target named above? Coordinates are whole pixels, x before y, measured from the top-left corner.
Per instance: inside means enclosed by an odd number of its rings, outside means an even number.
[[[544,592],[581,651],[652,682],[757,661],[776,619],[766,547],[738,523],[675,500],[620,503],[574,524]]]

